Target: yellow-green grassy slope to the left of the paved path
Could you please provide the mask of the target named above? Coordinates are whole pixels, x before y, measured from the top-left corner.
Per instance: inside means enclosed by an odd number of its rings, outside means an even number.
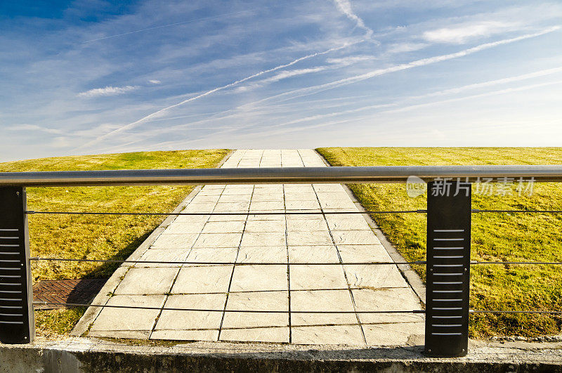
[[[53,157],[0,163],[0,172],[108,169],[180,169],[214,167],[228,150],[133,152],[111,155]],[[169,212],[192,186],[27,188],[33,211]],[[72,259],[126,259],[164,220],[164,216],[30,215],[32,256]],[[115,263],[40,261],[34,281],[109,277]],[[35,312],[37,334],[67,334],[83,308]]]

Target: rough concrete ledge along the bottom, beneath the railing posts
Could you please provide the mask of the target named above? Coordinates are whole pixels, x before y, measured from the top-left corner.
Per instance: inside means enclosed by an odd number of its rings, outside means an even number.
[[[312,349],[225,342],[131,346],[69,338],[0,345],[0,372],[562,372],[560,342],[471,344],[466,357],[444,359],[424,357],[421,346]]]

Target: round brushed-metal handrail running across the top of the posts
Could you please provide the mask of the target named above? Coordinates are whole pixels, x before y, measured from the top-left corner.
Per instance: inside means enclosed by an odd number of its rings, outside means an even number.
[[[469,182],[481,181],[479,178],[492,178],[492,182],[502,178],[562,181],[562,164],[3,172],[0,186],[405,183],[410,176],[425,182],[441,178]]]

